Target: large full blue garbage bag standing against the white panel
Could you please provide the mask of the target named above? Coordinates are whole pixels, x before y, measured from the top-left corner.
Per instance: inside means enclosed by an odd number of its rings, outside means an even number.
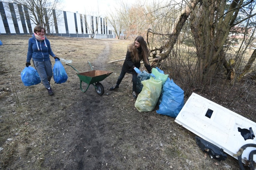
[[[159,105],[158,114],[176,118],[184,106],[184,91],[173,80],[167,78],[163,85],[162,102]]]

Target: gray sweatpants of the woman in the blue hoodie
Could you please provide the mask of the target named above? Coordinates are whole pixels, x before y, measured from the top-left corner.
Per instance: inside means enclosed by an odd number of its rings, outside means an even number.
[[[35,66],[36,71],[38,72],[39,77],[42,80],[42,83],[45,88],[51,87],[49,81],[53,76],[53,69],[51,61],[34,61],[33,64]]]

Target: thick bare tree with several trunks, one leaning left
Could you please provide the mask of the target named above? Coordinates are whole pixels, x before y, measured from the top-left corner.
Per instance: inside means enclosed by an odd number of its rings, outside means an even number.
[[[211,78],[220,66],[224,65],[227,72],[230,72],[233,69],[230,68],[225,59],[223,46],[231,28],[248,21],[256,15],[255,11],[253,13],[254,4],[251,0],[245,2],[243,0],[233,0],[231,2],[225,0],[185,1],[183,12],[177,18],[174,30],[166,34],[169,38],[163,45],[164,53],[159,54],[155,60],[164,60],[169,57],[184,23],[190,17],[190,29],[197,50],[199,84],[202,81],[207,82],[208,78]],[[164,35],[151,29],[148,31],[153,34]]]

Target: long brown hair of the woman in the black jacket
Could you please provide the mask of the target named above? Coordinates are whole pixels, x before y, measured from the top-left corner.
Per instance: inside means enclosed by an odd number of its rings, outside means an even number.
[[[149,62],[148,62],[149,49],[142,36],[136,37],[134,42],[128,45],[128,50],[132,52],[131,57],[132,57],[133,63],[140,61],[139,52],[135,47],[135,41],[138,41],[140,43],[140,48],[142,50],[142,59],[146,65],[149,65]]]

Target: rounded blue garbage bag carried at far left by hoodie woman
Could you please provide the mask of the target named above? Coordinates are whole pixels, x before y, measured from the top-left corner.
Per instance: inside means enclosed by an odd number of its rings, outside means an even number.
[[[20,78],[25,86],[32,86],[41,82],[38,72],[31,66],[25,67],[22,70]]]

